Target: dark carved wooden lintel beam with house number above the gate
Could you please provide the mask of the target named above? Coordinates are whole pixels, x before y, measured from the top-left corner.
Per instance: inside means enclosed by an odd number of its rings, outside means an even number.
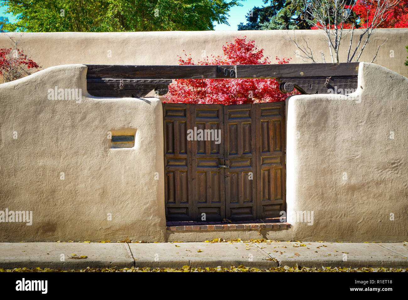
[[[87,89],[98,97],[165,95],[172,79],[276,79],[279,90],[303,94],[357,89],[359,63],[262,64],[236,66],[87,65]]]

